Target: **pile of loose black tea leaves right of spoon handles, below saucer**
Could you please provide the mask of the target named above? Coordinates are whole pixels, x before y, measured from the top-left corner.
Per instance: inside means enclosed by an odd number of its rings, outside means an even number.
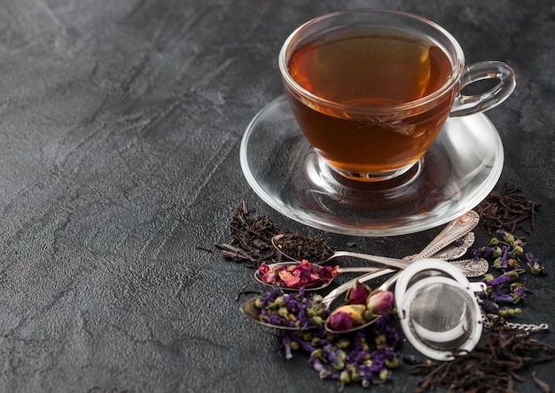
[[[528,200],[514,185],[504,185],[502,191],[490,193],[476,208],[479,226],[490,235],[501,229],[515,233],[529,233],[535,229],[535,211],[540,203]],[[529,222],[529,226],[523,224]]]

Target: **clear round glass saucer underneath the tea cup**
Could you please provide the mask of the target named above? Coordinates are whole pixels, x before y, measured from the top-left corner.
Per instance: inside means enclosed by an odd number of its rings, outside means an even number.
[[[348,180],[315,153],[280,96],[248,125],[240,161],[254,192],[281,214],[327,232],[378,237],[425,231],[474,208],[501,176],[504,150],[486,115],[450,118],[403,176]]]

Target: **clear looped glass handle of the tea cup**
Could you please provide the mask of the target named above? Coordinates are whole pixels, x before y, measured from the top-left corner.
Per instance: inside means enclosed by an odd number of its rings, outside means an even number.
[[[472,96],[461,94],[461,90],[469,84],[484,79],[498,79],[499,82],[482,94]],[[482,61],[466,66],[449,116],[475,114],[498,106],[511,95],[516,87],[516,82],[517,77],[514,70],[501,61]]]

